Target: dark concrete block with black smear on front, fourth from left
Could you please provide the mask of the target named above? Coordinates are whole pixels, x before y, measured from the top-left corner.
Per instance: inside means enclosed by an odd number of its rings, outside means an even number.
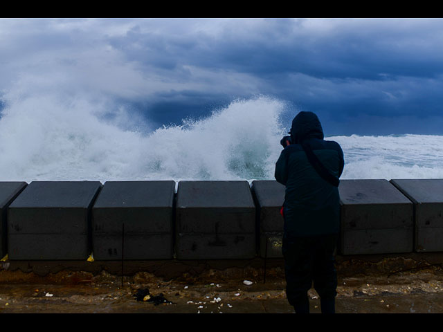
[[[255,205],[247,181],[180,181],[177,259],[255,257]]]

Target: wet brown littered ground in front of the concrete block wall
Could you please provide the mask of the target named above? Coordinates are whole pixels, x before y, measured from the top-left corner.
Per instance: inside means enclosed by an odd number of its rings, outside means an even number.
[[[282,268],[266,270],[266,280],[262,270],[250,269],[246,277],[211,270],[173,279],[139,272],[122,279],[106,271],[41,276],[1,268],[0,313],[293,313]],[[149,291],[145,301],[135,297],[140,290]],[[341,261],[337,293],[337,313],[443,313],[442,266],[399,258]],[[159,295],[167,302],[152,302]],[[309,297],[311,313],[320,313],[314,289]]]

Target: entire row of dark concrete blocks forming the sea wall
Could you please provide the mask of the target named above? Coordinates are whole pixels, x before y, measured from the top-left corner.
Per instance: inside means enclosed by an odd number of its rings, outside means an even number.
[[[0,182],[10,261],[281,258],[276,181]],[[443,179],[342,180],[339,255],[443,252]],[[0,258],[1,258],[0,257]]]

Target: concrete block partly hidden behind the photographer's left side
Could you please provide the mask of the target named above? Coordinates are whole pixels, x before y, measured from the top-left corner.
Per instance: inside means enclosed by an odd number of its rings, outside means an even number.
[[[257,207],[257,230],[260,256],[280,258],[284,219],[280,214],[285,187],[277,181],[253,181],[252,192]]]

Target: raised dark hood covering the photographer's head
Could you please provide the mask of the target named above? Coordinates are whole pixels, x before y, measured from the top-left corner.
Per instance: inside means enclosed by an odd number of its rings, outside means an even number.
[[[300,143],[307,138],[323,140],[323,128],[315,113],[301,111],[292,120],[291,140],[293,143]]]

